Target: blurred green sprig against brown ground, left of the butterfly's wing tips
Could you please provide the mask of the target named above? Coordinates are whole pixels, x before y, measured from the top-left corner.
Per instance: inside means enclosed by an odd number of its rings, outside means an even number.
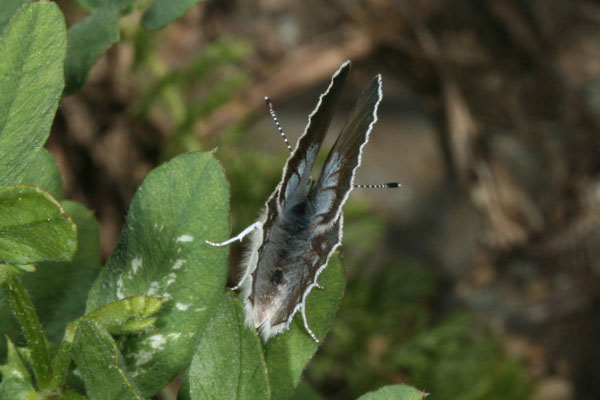
[[[136,117],[160,110],[167,113],[173,125],[161,157],[170,159],[184,152],[212,148],[198,138],[195,125],[226,104],[247,81],[239,64],[248,53],[248,46],[239,40],[222,38],[208,44],[189,65],[167,69],[164,61],[156,57],[156,41],[148,33],[136,31],[130,35],[140,54],[136,60],[138,72],[148,76],[134,107]]]

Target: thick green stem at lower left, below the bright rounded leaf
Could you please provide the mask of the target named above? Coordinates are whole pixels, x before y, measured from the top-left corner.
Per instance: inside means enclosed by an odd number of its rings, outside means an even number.
[[[31,349],[32,368],[37,387],[38,389],[45,388],[50,381],[50,351],[42,324],[18,277],[13,276],[6,279],[2,287]]]

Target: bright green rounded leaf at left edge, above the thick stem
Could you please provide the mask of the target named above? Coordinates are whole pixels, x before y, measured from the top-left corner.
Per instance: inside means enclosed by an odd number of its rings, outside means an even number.
[[[0,261],[68,261],[76,249],[77,227],[46,191],[34,186],[0,189]]]

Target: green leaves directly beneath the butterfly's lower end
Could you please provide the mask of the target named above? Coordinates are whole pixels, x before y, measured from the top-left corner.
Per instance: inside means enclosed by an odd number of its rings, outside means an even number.
[[[319,276],[319,283],[326,289],[315,289],[308,296],[307,320],[317,337],[323,339],[345,286],[337,256]],[[180,399],[287,399],[317,348],[297,314],[288,331],[264,345],[263,355],[256,332],[244,326],[241,303],[225,295],[201,335]]]

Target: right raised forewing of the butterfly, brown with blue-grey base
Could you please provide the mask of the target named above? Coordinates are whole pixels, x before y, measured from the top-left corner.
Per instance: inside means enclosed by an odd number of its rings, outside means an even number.
[[[315,207],[317,229],[331,227],[346,202],[354,173],[360,165],[363,146],[377,122],[382,99],[381,75],[377,75],[358,98],[350,118],[327,156],[321,176],[310,196]]]

